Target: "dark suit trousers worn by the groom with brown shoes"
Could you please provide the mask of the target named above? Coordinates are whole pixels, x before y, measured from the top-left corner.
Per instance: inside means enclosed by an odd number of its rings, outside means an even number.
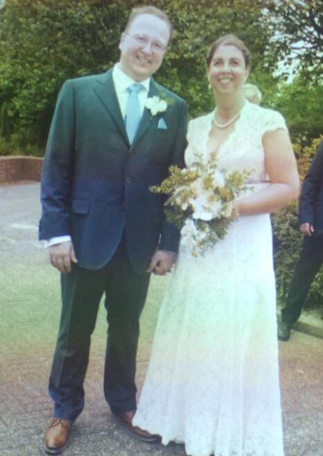
[[[103,294],[108,323],[105,398],[115,414],[136,409],[134,376],[139,316],[149,280],[149,273],[134,271],[124,236],[112,260],[102,269],[73,265],[71,273],[62,274],[62,315],[49,380],[54,416],[74,421],[84,408],[83,383],[91,333]]]

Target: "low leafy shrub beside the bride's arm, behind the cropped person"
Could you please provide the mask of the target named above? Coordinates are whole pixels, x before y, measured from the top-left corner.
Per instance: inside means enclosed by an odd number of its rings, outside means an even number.
[[[319,137],[310,146],[295,145],[295,151],[299,155],[298,167],[299,175],[302,180],[311,165],[313,156],[317,151],[317,146],[323,140]],[[277,243],[274,248],[274,259],[277,278],[278,299],[281,303],[286,303],[288,287],[292,280],[293,273],[299,253],[302,248],[303,235],[298,229],[298,204],[296,201],[290,203],[274,215],[274,235]],[[311,290],[308,294],[308,307],[322,306],[323,303],[323,269],[317,274]]]

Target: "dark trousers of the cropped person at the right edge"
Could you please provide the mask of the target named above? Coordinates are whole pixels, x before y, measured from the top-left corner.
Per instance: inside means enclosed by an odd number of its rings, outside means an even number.
[[[299,319],[308,290],[323,263],[323,233],[304,237],[303,248],[295,269],[286,307],[281,311],[281,320],[292,326]]]

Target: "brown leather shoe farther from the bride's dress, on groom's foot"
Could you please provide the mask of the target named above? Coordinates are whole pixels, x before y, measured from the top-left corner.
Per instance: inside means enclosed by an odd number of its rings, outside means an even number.
[[[45,451],[51,455],[60,455],[69,442],[72,422],[53,418],[45,432]]]

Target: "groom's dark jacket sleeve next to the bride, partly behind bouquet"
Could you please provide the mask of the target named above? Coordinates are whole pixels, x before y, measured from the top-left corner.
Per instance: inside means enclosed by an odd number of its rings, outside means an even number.
[[[186,103],[182,102],[182,109],[180,112],[180,121],[177,128],[177,134],[174,144],[174,153],[171,164],[177,164],[179,167],[184,167],[184,151],[186,149],[186,131],[187,123],[189,120],[188,109]],[[160,250],[168,250],[177,252],[178,244],[180,242],[180,230],[173,226],[168,221],[164,221],[161,228],[161,237],[159,243]]]

